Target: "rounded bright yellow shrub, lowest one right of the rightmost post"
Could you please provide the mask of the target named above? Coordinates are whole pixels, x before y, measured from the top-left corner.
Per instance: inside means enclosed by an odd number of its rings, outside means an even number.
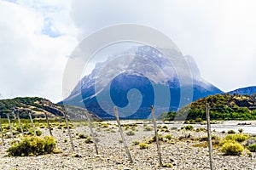
[[[241,144],[234,141],[226,142],[220,149],[226,155],[240,155],[243,150]]]

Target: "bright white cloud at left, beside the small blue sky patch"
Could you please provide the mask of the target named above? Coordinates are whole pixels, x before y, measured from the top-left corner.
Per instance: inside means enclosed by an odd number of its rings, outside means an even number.
[[[57,9],[47,17],[61,36],[45,35],[44,8],[17,3],[0,2],[1,94],[5,98],[42,96],[59,101],[66,56],[77,44],[76,29],[66,20],[68,11]]]

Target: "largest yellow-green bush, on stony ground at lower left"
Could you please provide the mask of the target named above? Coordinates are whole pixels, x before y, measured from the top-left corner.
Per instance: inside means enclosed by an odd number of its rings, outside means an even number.
[[[13,144],[7,151],[9,156],[39,156],[53,153],[55,145],[53,137],[26,137]]]

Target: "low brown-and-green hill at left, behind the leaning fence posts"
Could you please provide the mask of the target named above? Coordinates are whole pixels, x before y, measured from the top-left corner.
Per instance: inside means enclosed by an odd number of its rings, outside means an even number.
[[[67,116],[71,119],[85,119],[83,108],[72,105],[65,105],[65,107],[64,105],[56,105],[48,99],[26,97],[0,100],[0,114],[2,117],[6,117],[6,113],[13,112],[14,108],[15,111],[19,112],[21,118],[28,118],[28,112],[31,112],[32,116],[37,118],[44,117],[44,113],[47,113],[51,118],[56,118],[63,116],[64,111],[66,111]],[[92,112],[90,112],[90,116],[93,119],[100,120]]]

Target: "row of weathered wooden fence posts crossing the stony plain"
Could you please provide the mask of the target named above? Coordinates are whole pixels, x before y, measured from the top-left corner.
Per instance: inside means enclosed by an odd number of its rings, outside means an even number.
[[[206,117],[207,117],[207,139],[208,139],[208,147],[209,147],[209,165],[210,165],[210,168],[211,169],[214,169],[214,156],[212,156],[212,134],[211,134],[211,124],[210,124],[210,120],[214,119],[215,117],[210,117],[211,114],[210,112],[211,111],[223,111],[224,109],[229,109],[229,108],[232,108],[232,109],[237,109],[237,107],[227,107],[227,108],[224,108],[224,107],[212,107],[210,108],[209,106],[206,105]],[[247,108],[247,107],[241,107],[241,108]],[[252,107],[248,107],[248,109],[250,110],[254,110],[256,109],[256,107],[252,106]],[[96,110],[95,110],[96,111]],[[126,155],[129,157],[129,160],[132,162],[133,159],[132,159],[132,156],[131,156],[131,153],[130,153],[130,150],[129,150],[129,147],[128,145],[126,144],[125,142],[125,136],[122,132],[122,125],[121,123],[119,122],[119,114],[117,113],[117,108],[113,108],[113,111],[115,113],[115,119],[117,121],[117,124],[119,125],[119,133],[120,133],[120,136],[122,137],[123,141],[124,141],[124,146],[125,146],[125,150],[126,150]],[[154,107],[152,108],[149,108],[149,109],[146,109],[144,111],[148,111],[150,112],[150,114],[152,114],[152,121],[153,121],[153,124],[154,124],[154,136],[156,137],[156,148],[157,148],[157,155],[158,155],[158,159],[159,159],[159,162],[160,162],[160,166],[163,166],[163,162],[162,162],[162,156],[161,156],[161,151],[160,151],[160,142],[159,142],[159,139],[158,139],[158,125],[157,125],[157,122],[156,122],[156,119],[155,119],[155,114],[154,112],[156,111],[162,111],[158,108],[154,109]],[[126,112],[126,111],[124,111]],[[129,112],[129,111],[127,111]],[[34,131],[34,135],[36,136],[37,133],[36,133],[36,128],[35,128],[35,125],[34,125],[34,118],[32,116],[32,113],[29,112],[27,113],[30,117],[30,121],[31,121],[31,125],[32,125],[32,128],[33,128],[33,131]],[[93,139],[93,143],[95,144],[95,150],[96,150],[96,154],[98,155],[99,154],[99,150],[97,148],[97,143],[96,143],[96,137],[93,136],[93,134],[95,133],[94,132],[94,129],[91,125],[91,122],[94,122],[95,120],[92,120],[91,119],[91,116],[90,114],[88,113],[88,111],[85,110],[84,112],[84,116],[86,117],[86,121],[89,122],[89,127],[90,127],[90,134],[92,135],[92,139]],[[19,127],[20,127],[20,130],[21,130],[21,133],[23,133],[23,135],[25,134],[24,131],[23,131],[23,127],[22,127],[22,123],[20,122],[20,116],[19,116],[19,112],[16,112],[15,114],[12,115],[13,117],[13,120],[11,121],[11,117],[9,116],[9,113],[7,113],[7,118],[8,118],[8,123],[9,123],[9,130],[10,130],[10,133],[12,135],[12,139],[14,140],[14,135],[13,135],[13,132],[12,132],[12,123],[16,123],[17,120],[18,120],[18,123],[19,123]],[[67,125],[67,133],[68,133],[68,136],[69,136],[69,140],[70,140],[70,144],[71,144],[71,149],[73,150],[73,152],[75,152],[75,147],[74,147],[74,144],[73,144],[73,136],[71,135],[71,132],[70,132],[70,127],[69,127],[69,122],[73,122],[73,120],[69,120],[67,115],[64,113],[63,116],[61,116],[62,119],[58,120],[59,122],[65,122],[66,125]],[[189,120],[190,118],[195,118],[195,117],[186,117],[186,120]],[[232,117],[231,117],[232,119]],[[36,120],[37,122],[38,120]],[[52,120],[49,119],[48,115],[45,113],[45,117],[44,119],[40,120],[41,122],[42,121],[45,121],[47,122],[48,124],[48,128],[49,128],[49,135],[53,136],[53,133],[51,132],[51,122],[54,122]],[[0,116],[0,133],[2,135],[2,144],[4,145],[5,144],[5,141],[4,141],[4,134],[3,134],[3,118],[1,118]],[[177,150],[179,150],[177,148]]]

